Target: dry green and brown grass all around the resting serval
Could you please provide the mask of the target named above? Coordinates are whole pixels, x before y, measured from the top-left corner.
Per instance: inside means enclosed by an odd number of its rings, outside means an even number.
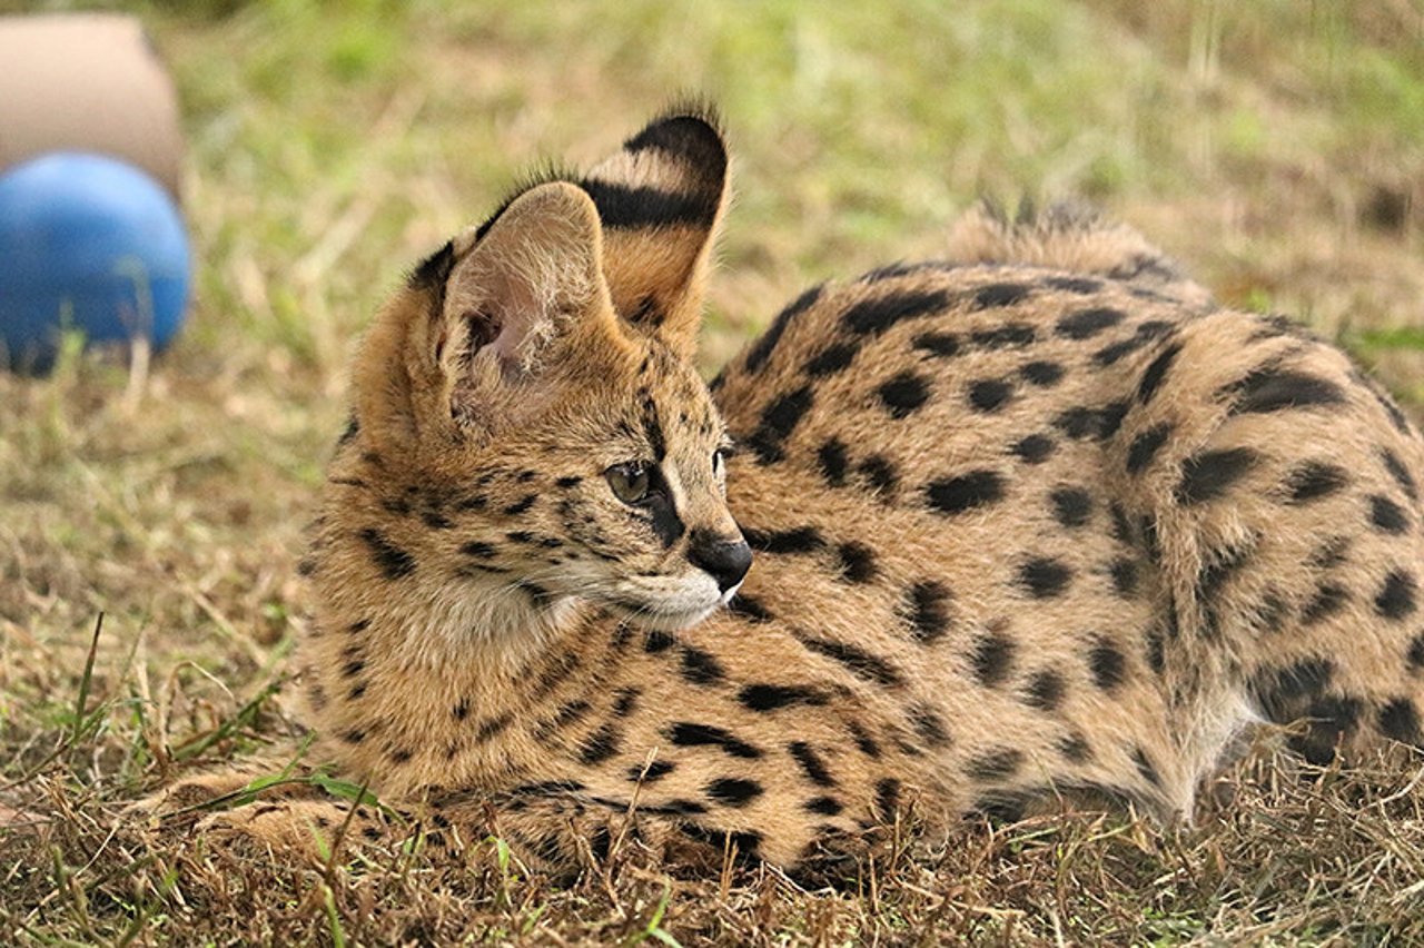
[[[1075,192],[1421,417],[1417,0],[137,10],[184,102],[197,302],[147,377],[0,377],[0,939],[1424,939],[1417,764],[1302,781],[1265,753],[1195,828],[965,826],[820,891],[635,853],[561,888],[497,841],[273,865],[121,809],[296,733],[299,530],[382,295],[537,159],[587,164],[679,93],[721,102],[736,152],[708,370],[810,280],[934,255],[980,194]]]

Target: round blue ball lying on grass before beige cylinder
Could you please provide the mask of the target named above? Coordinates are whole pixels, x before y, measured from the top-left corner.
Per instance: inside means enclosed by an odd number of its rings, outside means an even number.
[[[0,364],[54,366],[63,329],[161,350],[188,302],[188,236],[168,192],[137,168],[78,152],[0,175]]]

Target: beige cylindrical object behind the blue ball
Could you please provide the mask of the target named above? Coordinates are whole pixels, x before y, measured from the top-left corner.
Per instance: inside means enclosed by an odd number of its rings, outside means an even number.
[[[0,174],[88,151],[147,171],[177,198],[182,149],[178,97],[137,19],[0,17]]]

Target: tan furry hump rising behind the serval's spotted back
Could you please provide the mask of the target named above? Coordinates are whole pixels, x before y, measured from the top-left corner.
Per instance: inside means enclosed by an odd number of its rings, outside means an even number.
[[[1215,309],[1210,292],[1141,233],[1091,205],[1061,201],[1040,211],[1025,201],[1010,215],[981,201],[950,233],[957,263],[1015,263],[1121,280],[1192,309]]]

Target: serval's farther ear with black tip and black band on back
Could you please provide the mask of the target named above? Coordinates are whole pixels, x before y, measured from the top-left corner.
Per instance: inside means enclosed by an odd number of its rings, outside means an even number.
[[[702,322],[726,165],[716,120],[684,110],[649,124],[580,182],[604,225],[604,276],[618,315],[685,357]]]

